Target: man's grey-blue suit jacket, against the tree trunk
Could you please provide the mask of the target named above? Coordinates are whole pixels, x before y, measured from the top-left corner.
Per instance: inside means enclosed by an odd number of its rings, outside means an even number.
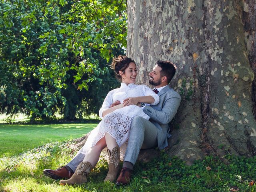
[[[145,106],[144,112],[150,116],[150,121],[157,128],[157,140],[159,149],[168,146],[168,124],[174,118],[180,106],[180,94],[170,86],[166,86],[159,93],[160,101],[157,105]]]

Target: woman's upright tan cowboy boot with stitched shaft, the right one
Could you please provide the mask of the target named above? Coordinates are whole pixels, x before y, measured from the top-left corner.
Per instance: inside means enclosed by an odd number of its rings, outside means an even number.
[[[110,150],[107,149],[108,151],[108,156],[109,156],[109,165],[108,165],[108,174],[104,180],[114,182],[118,176],[119,170],[120,170],[120,151],[119,147],[115,147],[112,149],[112,152],[110,154]]]

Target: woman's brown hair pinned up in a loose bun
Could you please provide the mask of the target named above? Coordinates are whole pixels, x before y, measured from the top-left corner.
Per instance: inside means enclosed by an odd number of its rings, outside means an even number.
[[[131,58],[124,56],[124,55],[120,55],[116,58],[113,58],[110,68],[114,69],[115,76],[118,80],[122,81],[122,77],[120,76],[119,71],[122,71],[124,73],[124,70],[126,70],[126,68],[128,68],[129,63],[131,63],[131,62],[135,63],[134,60],[132,60]]]

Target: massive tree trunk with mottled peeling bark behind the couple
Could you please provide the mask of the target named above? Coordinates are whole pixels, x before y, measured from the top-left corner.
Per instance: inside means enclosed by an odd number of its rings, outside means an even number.
[[[170,155],[188,164],[210,153],[254,156],[255,1],[127,3],[127,55],[137,62],[138,83],[148,84],[157,60],[170,60],[178,68],[171,86],[182,102]]]

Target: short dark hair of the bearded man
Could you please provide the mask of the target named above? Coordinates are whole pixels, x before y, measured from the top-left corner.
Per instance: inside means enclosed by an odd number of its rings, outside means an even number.
[[[160,75],[166,76],[167,82],[170,83],[173,76],[175,75],[176,68],[177,68],[176,65],[174,65],[170,61],[160,61],[160,60],[156,62],[156,64],[162,68],[162,70],[160,71]]]

